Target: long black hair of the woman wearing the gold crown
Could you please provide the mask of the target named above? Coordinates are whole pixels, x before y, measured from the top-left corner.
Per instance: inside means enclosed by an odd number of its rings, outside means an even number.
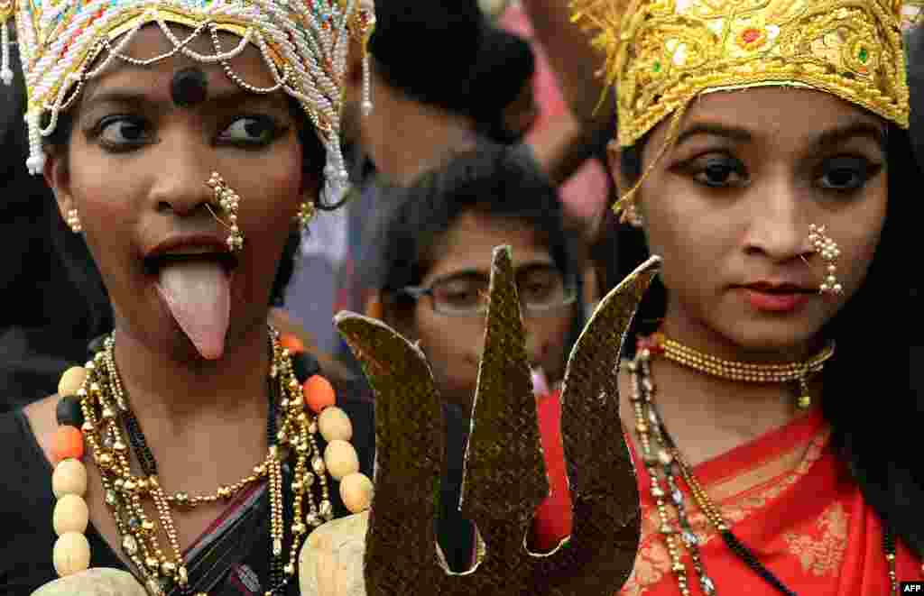
[[[622,153],[621,166],[630,181],[641,175],[644,141]],[[825,337],[837,341],[837,353],[824,368],[821,410],[832,425],[832,447],[869,506],[910,548],[924,554],[919,511],[924,470],[917,447],[910,440],[903,447],[924,423],[924,399],[902,388],[909,378],[908,337],[920,329],[920,322],[905,285],[914,276],[900,273],[907,262],[907,225],[918,221],[919,210],[917,197],[907,189],[920,185],[922,177],[906,130],[889,125],[887,154],[889,199],[880,244],[863,286],[822,329]],[[648,255],[638,232],[624,234],[620,251],[623,276]],[[635,258],[623,259],[630,254]],[[642,301],[631,333],[649,332],[665,304],[657,282]]]

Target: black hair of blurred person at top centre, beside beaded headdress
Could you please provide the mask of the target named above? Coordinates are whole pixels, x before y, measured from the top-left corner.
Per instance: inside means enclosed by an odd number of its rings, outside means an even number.
[[[384,0],[369,40],[375,70],[414,100],[468,113],[482,19],[474,0]]]

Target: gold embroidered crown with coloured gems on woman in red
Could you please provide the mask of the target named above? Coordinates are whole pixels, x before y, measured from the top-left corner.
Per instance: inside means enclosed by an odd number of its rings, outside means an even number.
[[[700,93],[760,86],[819,89],[908,126],[900,0],[574,0],[572,10],[606,54],[624,147]]]

